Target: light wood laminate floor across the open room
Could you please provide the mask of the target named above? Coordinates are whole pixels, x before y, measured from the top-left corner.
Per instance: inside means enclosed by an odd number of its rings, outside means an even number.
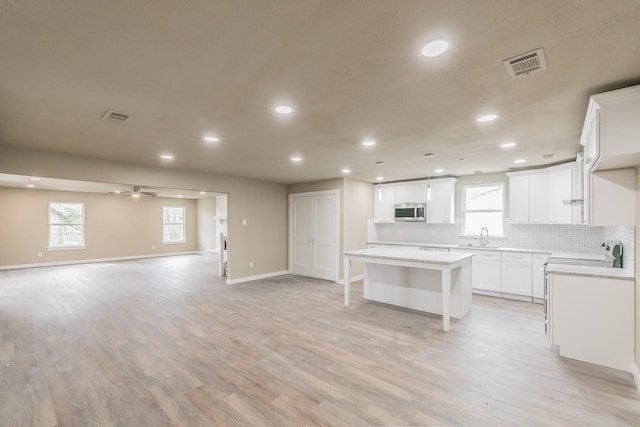
[[[559,358],[542,307],[440,316],[202,256],[0,271],[2,426],[640,425],[630,374]]]

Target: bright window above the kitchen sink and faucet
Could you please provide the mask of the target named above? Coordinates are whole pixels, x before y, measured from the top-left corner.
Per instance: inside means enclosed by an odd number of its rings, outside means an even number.
[[[463,197],[462,234],[479,236],[486,227],[489,235],[502,237],[504,184],[468,185]]]

